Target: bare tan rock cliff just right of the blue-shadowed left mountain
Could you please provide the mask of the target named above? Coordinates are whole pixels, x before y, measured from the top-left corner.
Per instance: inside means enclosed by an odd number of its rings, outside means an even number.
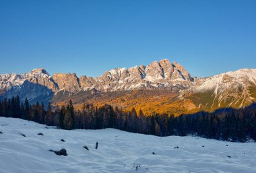
[[[78,92],[81,90],[79,79],[75,73],[56,73],[53,75],[53,80],[57,83],[60,90],[67,90],[67,92]]]

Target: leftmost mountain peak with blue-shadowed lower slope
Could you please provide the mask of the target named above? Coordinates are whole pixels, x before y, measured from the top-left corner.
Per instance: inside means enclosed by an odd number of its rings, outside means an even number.
[[[0,90],[1,96],[9,98],[19,95],[22,101],[28,98],[33,103],[50,100],[59,88],[53,77],[44,69],[34,69],[22,75],[15,73],[0,75]]]

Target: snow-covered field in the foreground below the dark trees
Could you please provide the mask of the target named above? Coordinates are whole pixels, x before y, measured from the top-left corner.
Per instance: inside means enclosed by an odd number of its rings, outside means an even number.
[[[0,131],[1,173],[256,172],[256,143],[155,137],[115,129],[64,131],[15,118],[0,118]],[[49,151],[62,148],[67,156]]]

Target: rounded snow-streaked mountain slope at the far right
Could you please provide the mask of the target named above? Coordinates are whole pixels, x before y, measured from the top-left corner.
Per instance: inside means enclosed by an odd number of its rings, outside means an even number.
[[[241,108],[256,101],[256,69],[240,69],[197,79],[191,89],[192,96],[204,96],[199,99],[200,106]]]

